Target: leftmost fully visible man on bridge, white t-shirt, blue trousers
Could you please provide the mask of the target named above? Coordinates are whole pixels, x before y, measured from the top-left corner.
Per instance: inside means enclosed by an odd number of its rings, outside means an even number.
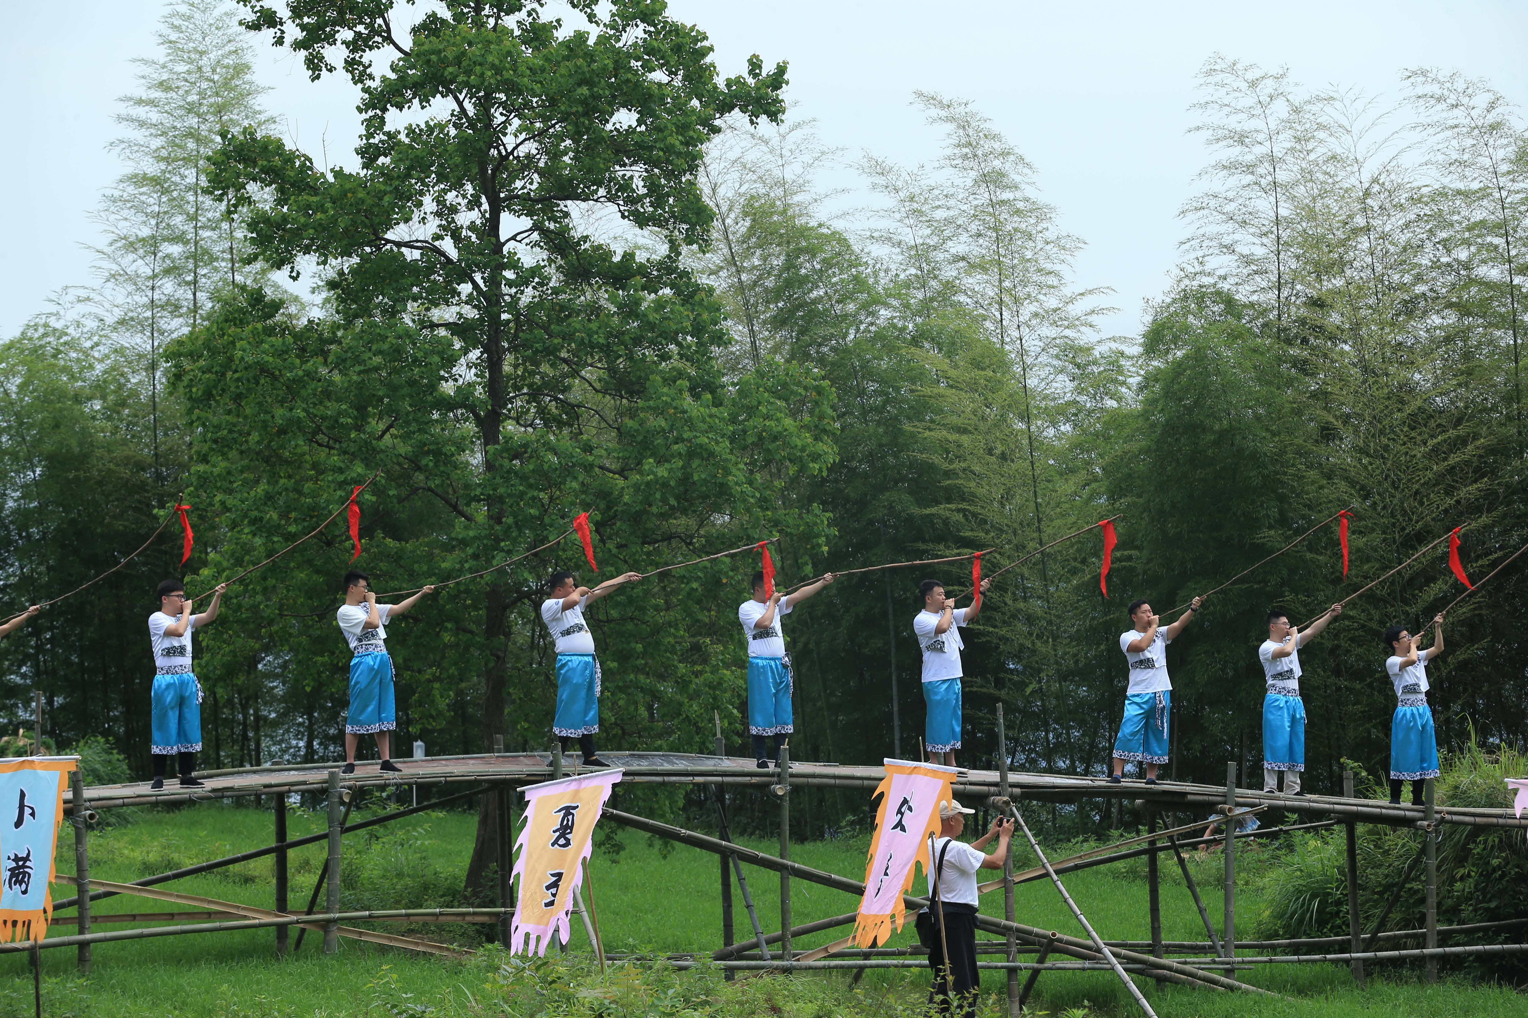
[[[165,786],[170,757],[180,760],[180,788],[202,788],[196,777],[196,754],[202,751],[202,684],[191,670],[191,633],[217,618],[226,583],[212,589],[212,603],[200,615],[180,580],[159,585],[159,610],[148,617],[148,638],[154,646],[154,688],[151,696],[151,734],[148,752],[154,760],[154,781]]]

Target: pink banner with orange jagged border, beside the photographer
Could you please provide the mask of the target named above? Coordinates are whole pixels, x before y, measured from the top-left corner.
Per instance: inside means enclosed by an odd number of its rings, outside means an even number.
[[[886,760],[886,777],[876,788],[876,836],[865,867],[865,896],[854,922],[854,943],[874,948],[886,943],[895,922],[905,922],[902,896],[912,887],[912,864],[929,870],[929,835],[940,832],[938,804],[950,798],[955,768],[909,760]]]

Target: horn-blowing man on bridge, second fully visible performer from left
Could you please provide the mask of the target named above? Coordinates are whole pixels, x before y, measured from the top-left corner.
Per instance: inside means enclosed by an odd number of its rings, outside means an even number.
[[[397,604],[377,604],[371,592],[371,577],[359,569],[345,574],[345,603],[335,614],[339,632],[350,644],[350,710],[345,714],[345,766],[341,774],[356,772],[356,743],[371,734],[377,742],[382,769],[397,774],[388,752],[390,731],[397,728],[397,704],[393,693],[393,658],[387,652],[387,624],[406,614],[419,598],[434,594],[426,586]]]

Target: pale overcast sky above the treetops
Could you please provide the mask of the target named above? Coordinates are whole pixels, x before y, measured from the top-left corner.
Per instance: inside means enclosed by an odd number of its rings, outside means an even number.
[[[1177,258],[1177,212],[1206,162],[1193,75],[1225,53],[1288,66],[1306,85],[1398,96],[1397,72],[1436,66],[1528,102],[1528,5],[1475,3],[905,3],[902,0],[672,0],[700,24],[723,73],[749,53],[790,63],[795,114],[822,140],[905,163],[934,162],[938,134],[909,105],[914,89],[972,99],[1034,163],[1063,229],[1086,241],[1077,284],[1112,287],[1106,334],[1134,334],[1141,302]],[[121,168],[116,99],[134,56],[151,55],[162,6],[139,0],[0,0],[0,336],[89,284],[90,212]],[[261,40],[266,104],[286,133],[330,163],[353,165],[358,118],[344,81],[313,84]],[[848,169],[833,185],[853,186]],[[869,198],[866,197],[866,201]]]

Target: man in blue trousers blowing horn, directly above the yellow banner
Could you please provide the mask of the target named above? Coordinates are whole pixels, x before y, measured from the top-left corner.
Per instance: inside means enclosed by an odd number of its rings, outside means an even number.
[[[599,658],[594,656],[594,633],[584,621],[584,609],[617,586],[640,578],[640,572],[626,572],[614,580],[605,580],[591,591],[578,586],[571,572],[553,572],[549,586],[552,597],[541,603],[541,621],[547,624],[558,649],[558,710],[552,719],[552,734],[562,740],[564,752],[568,740],[578,739],[587,768],[607,765],[594,755],[601,670]]]

